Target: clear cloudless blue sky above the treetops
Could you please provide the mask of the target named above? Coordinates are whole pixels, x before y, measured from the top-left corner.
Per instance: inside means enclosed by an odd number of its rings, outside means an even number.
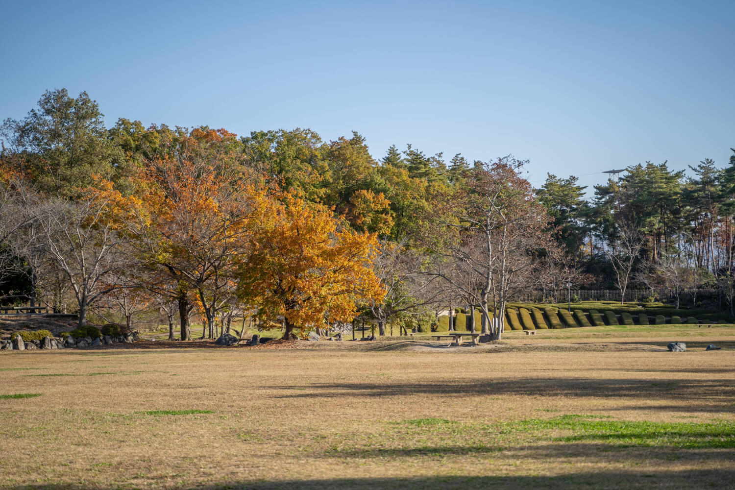
[[[0,118],[46,89],[237,134],[355,130],[380,158],[530,159],[528,179],[735,147],[735,1],[3,1]]]

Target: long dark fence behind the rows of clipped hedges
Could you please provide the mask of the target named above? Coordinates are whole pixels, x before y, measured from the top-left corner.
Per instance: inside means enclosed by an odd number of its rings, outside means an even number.
[[[576,301],[620,301],[620,291],[617,289],[572,289],[568,292],[572,300]],[[717,300],[720,289],[690,288],[679,292],[679,301],[695,303],[700,300]],[[628,289],[625,291],[625,301],[661,301],[671,302],[676,299],[672,291],[666,289]],[[528,303],[566,303],[567,289],[536,289],[519,292],[517,300]]]

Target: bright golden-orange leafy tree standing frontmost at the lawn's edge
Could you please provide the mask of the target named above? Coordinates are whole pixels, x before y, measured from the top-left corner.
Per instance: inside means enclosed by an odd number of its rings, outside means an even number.
[[[238,295],[284,317],[284,339],[294,329],[348,322],[357,306],[385,295],[371,264],[375,234],[340,226],[326,206],[293,195],[254,196],[248,219],[251,251],[240,266]]]

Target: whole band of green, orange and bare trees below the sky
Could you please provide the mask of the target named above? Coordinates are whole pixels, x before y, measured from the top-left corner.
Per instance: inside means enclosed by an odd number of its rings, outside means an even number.
[[[586,200],[573,176],[534,189],[512,156],[373,159],[356,132],[108,129],[63,89],[0,140],[3,292],[80,325],[157,309],[171,338],[176,323],[191,338],[193,315],[209,337],[235,318],[286,338],[356,318],[385,334],[464,306],[498,338],[521,290],[723,282],[732,267],[735,156],[693,178],[628,167]]]

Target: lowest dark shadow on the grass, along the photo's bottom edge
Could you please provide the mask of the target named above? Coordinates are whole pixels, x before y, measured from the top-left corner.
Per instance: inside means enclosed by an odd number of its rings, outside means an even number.
[[[369,471],[366,469],[366,472]],[[121,487],[127,488],[125,485]],[[7,486],[9,490],[82,490],[120,487],[90,485]],[[179,489],[326,490],[326,489],[734,489],[735,470],[651,472],[577,472],[559,476],[434,476],[417,478],[329,478],[314,480],[231,481],[177,486]]]

